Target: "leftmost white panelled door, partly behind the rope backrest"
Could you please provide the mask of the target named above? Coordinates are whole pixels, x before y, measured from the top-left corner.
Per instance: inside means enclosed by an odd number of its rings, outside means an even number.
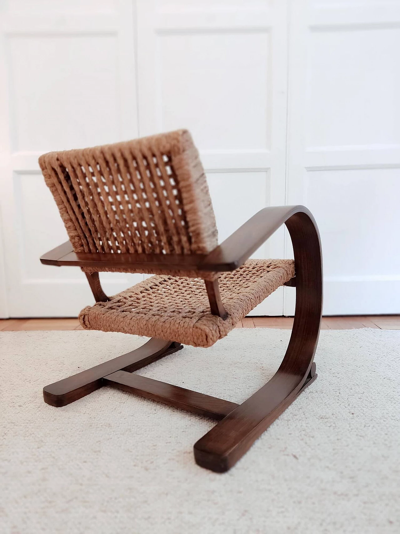
[[[93,302],[78,268],[39,256],[67,240],[38,156],[137,137],[130,2],[10,2],[1,26],[3,316],[76,316]],[[0,262],[0,273],[1,273]],[[103,277],[103,275],[101,275]],[[4,278],[7,280],[5,284]],[[142,275],[104,277],[113,294]]]

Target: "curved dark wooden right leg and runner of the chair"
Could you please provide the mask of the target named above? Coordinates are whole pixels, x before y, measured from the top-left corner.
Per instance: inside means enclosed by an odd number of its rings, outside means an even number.
[[[313,363],[322,312],[322,260],[318,232],[305,213],[286,222],[296,266],[296,309],[285,357],[273,378],[194,446],[198,465],[230,469],[263,431],[315,380]]]

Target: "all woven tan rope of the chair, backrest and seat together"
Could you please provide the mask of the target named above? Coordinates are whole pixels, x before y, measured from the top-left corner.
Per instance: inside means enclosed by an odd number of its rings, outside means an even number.
[[[193,255],[218,244],[204,170],[187,130],[50,152],[39,164],[77,253]],[[134,266],[83,270],[143,272]],[[249,260],[223,274],[146,272],[158,276],[86,307],[81,325],[210,347],[294,276],[294,262]],[[211,314],[204,284],[218,277],[225,320]]]

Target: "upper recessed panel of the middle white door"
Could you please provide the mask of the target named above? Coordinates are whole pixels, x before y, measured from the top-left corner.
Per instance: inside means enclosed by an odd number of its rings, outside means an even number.
[[[156,40],[159,130],[190,123],[201,151],[270,149],[267,28],[162,33]]]

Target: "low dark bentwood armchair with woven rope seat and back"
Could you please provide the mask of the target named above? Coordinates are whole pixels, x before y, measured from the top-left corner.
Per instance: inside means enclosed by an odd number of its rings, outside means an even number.
[[[313,216],[303,206],[265,208],[218,245],[198,152],[187,130],[39,158],[69,241],[47,265],[79,266],[95,304],[85,329],[149,336],[139,349],[43,389],[65,406],[102,386],[155,399],[217,421],[194,445],[198,465],[225,472],[313,382],[322,310],[322,258]],[[240,206],[233,207],[240,209]],[[249,260],[281,225],[293,260]],[[99,272],[154,276],[108,297]],[[182,349],[210,347],[279,286],[295,287],[292,334],[278,371],[243,404],[134,374]]]

